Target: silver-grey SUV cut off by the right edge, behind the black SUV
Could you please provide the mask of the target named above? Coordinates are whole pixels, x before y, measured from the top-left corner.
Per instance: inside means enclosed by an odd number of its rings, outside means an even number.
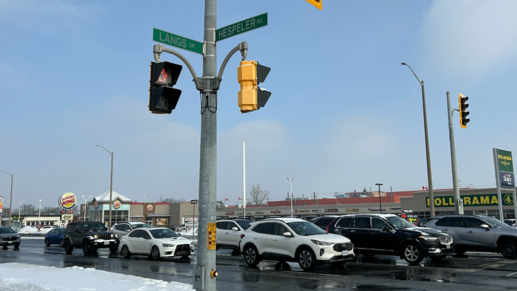
[[[485,215],[443,215],[429,219],[423,226],[452,235],[454,252],[501,253],[517,258],[517,228]]]

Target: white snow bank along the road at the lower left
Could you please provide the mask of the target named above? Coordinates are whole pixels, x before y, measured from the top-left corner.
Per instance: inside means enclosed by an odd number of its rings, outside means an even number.
[[[165,282],[94,268],[55,268],[20,263],[0,264],[2,291],[183,291],[191,284]]]

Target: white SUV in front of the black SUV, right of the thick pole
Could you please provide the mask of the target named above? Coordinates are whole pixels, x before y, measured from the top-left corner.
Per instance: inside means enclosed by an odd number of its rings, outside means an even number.
[[[327,234],[313,223],[297,218],[271,218],[253,224],[240,235],[246,264],[260,261],[298,262],[303,270],[318,264],[343,265],[354,258],[354,246],[346,237]]]

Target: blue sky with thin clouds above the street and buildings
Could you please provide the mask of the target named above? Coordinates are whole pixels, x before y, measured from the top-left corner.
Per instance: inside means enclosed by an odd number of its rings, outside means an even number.
[[[0,2],[0,169],[13,201],[55,206],[63,192],[110,186],[133,200],[195,198],[200,101],[184,68],[171,115],[147,111],[152,30],[203,40],[203,1]],[[469,96],[454,115],[462,186],[495,185],[492,148],[514,150],[517,63],[514,1],[220,0],[218,27],[268,12],[268,26],[217,44],[218,67],[240,41],[271,67],[265,108],[241,114],[236,54],[218,96],[218,200],[247,189],[330,197],[332,192],[427,186],[421,87],[425,82],[433,184],[450,188],[446,91]],[[202,74],[202,57],[179,50]],[[180,64],[172,55],[162,60]],[[0,195],[9,176],[0,174]],[[8,201],[8,199],[6,199]],[[7,202],[8,203],[8,202]],[[17,203],[13,203],[17,205]]]

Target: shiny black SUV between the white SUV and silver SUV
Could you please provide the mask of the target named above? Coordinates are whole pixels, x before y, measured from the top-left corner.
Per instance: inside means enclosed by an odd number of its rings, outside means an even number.
[[[416,227],[392,214],[341,216],[330,223],[328,233],[349,238],[356,254],[396,255],[409,264],[419,264],[424,257],[438,261],[454,252],[449,234]]]

